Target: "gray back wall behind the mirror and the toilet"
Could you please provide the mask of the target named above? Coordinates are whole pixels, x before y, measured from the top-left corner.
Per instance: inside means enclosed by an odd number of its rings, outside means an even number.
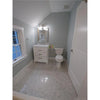
[[[51,13],[40,23],[40,25],[46,25],[49,27],[49,43],[54,45],[54,47],[62,47],[65,49],[65,58],[69,19],[69,12]],[[55,51],[50,49],[49,55],[50,57],[55,56]]]

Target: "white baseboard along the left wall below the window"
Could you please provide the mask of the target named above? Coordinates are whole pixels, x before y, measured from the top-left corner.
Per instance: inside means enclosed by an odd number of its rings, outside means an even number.
[[[13,84],[16,85],[27,73],[27,68],[33,64],[33,60],[31,60],[24,68],[22,68],[13,78]]]

